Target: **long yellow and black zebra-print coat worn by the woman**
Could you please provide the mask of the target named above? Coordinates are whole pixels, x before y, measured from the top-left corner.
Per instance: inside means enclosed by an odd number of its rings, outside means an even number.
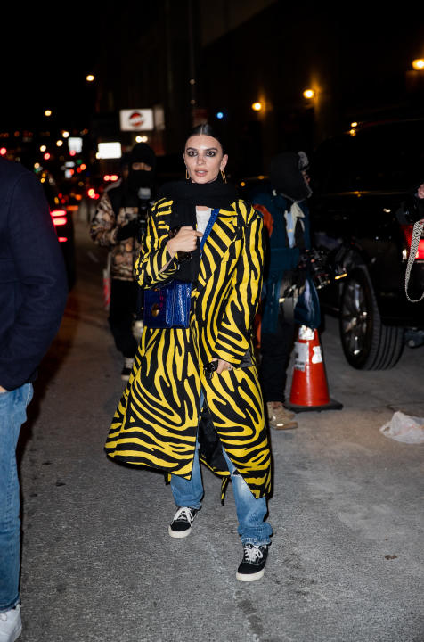
[[[172,201],[161,199],[151,210],[135,265],[143,288],[177,275],[176,259],[160,272],[169,259],[171,208]],[[190,479],[202,389],[215,432],[249,489],[257,498],[269,493],[271,457],[252,338],[263,262],[257,212],[243,201],[219,210],[192,289],[190,328],[144,329],[106,441],[110,457]],[[216,357],[234,368],[208,381],[203,366]]]

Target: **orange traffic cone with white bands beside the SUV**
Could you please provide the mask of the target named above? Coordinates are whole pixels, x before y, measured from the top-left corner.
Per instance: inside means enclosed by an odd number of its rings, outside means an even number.
[[[301,325],[295,343],[295,363],[289,403],[294,412],[339,410],[341,403],[330,399],[318,330]]]

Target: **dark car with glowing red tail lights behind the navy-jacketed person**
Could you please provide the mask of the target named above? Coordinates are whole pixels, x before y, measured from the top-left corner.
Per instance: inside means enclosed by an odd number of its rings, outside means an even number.
[[[45,190],[45,197],[49,203],[54,229],[61,244],[70,290],[76,281],[75,238],[72,219],[73,208],[72,206],[69,207],[67,197],[61,194],[53,176],[48,171],[43,170],[38,174],[38,177]]]

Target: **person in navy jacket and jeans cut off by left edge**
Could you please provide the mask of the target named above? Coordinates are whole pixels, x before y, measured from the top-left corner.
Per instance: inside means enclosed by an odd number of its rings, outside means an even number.
[[[16,445],[37,367],[61,324],[68,282],[43,188],[0,159],[0,639],[19,638]]]

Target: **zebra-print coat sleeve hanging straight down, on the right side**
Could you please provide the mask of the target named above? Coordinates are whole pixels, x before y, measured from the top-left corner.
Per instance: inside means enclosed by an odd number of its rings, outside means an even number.
[[[234,366],[241,363],[250,347],[250,335],[262,288],[263,229],[262,218],[250,207],[241,258],[232,276],[230,296],[216,341],[216,356]]]

